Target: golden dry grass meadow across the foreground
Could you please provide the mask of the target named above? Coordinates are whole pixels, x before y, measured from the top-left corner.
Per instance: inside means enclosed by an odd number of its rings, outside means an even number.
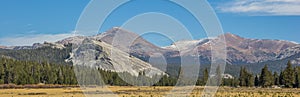
[[[173,87],[109,87],[119,97],[163,97]],[[199,97],[204,87],[196,87],[190,97]],[[108,97],[110,92],[101,87],[50,88],[50,89],[0,89],[0,97]],[[217,97],[300,97],[300,89],[280,88],[230,88],[221,87]]]

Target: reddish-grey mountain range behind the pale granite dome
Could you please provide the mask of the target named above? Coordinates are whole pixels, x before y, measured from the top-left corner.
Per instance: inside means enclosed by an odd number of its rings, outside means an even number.
[[[91,38],[101,40],[112,45],[113,38],[116,33],[122,36],[123,42],[138,37],[132,42],[132,44],[130,44],[130,46],[124,45],[126,43],[118,43],[115,47],[120,50],[129,49],[129,51],[126,51],[127,53],[144,61],[147,61],[147,58],[150,56],[154,56],[155,53],[161,53],[166,57],[166,59],[172,60],[179,58],[180,56],[184,56],[184,53],[188,53],[189,51],[196,49],[202,63],[209,63],[211,56],[210,42],[221,37],[220,35],[219,37],[211,39],[183,40],[177,41],[170,46],[158,47],[133,32],[114,27],[103,34],[92,36]],[[300,45],[294,42],[268,39],[247,39],[231,33],[224,34],[224,37],[227,45],[227,61],[230,64],[250,64],[276,61],[299,54],[298,47],[300,47]],[[84,37],[73,37],[56,42],[56,44],[66,45],[68,43],[78,43],[83,39]],[[184,53],[180,54],[178,47],[184,47],[181,49],[181,52]]]

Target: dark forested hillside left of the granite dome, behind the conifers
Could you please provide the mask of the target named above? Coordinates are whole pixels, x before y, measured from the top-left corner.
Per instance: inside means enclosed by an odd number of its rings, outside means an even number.
[[[6,57],[22,61],[48,62],[55,64],[69,64],[65,59],[70,57],[71,45],[66,48],[40,47],[36,49],[0,49],[0,57]]]

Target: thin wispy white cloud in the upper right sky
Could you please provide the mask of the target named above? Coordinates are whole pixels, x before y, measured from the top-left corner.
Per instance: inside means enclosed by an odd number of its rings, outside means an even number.
[[[248,15],[300,15],[300,0],[228,0],[217,9]]]

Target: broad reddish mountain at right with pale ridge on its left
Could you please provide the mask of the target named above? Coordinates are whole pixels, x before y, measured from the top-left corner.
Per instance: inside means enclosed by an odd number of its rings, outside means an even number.
[[[278,58],[280,53],[284,53],[286,49],[298,45],[293,42],[282,40],[246,39],[230,33],[224,34],[224,37],[227,45],[227,61],[231,64],[249,64],[280,60],[280,58]],[[219,38],[220,36],[213,39],[191,40],[184,42],[179,41],[164,48],[173,49],[177,44],[179,46],[186,47],[183,52],[189,52],[197,49],[201,60],[204,63],[209,63],[211,56],[210,44]],[[196,45],[196,47],[189,48],[188,45]],[[295,53],[290,53],[290,55],[293,54]],[[281,57],[285,58],[284,54],[281,55]]]

